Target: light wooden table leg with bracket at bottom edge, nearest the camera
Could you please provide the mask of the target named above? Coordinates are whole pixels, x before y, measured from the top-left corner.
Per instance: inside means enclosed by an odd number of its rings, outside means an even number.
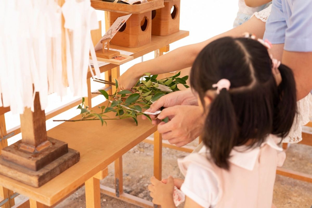
[[[108,175],[108,168],[95,174],[85,181],[86,208],[101,208],[100,180]]]

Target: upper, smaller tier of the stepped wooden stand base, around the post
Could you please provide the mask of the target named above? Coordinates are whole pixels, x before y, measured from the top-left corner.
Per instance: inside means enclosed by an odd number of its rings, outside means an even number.
[[[18,141],[2,150],[2,158],[8,162],[13,162],[33,171],[40,170],[50,162],[68,152],[66,142],[48,137],[48,141],[52,143],[51,146],[43,149],[40,152],[27,152],[20,147],[22,141]]]

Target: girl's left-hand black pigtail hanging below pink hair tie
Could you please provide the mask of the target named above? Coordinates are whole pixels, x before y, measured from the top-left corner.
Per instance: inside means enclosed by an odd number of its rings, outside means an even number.
[[[223,88],[210,105],[203,139],[218,167],[229,169],[228,158],[235,146],[237,135],[237,118],[231,96],[227,89]]]

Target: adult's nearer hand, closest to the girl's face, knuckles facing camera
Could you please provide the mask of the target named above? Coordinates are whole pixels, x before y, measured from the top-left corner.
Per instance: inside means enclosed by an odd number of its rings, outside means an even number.
[[[157,118],[162,120],[166,117],[170,120],[168,123],[159,123],[158,132],[162,134],[164,140],[178,147],[192,142],[202,133],[206,118],[201,107],[193,105],[165,108]]]

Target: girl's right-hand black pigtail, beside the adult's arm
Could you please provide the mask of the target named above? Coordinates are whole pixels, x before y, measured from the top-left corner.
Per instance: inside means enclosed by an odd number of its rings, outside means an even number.
[[[275,104],[272,134],[285,138],[297,113],[296,85],[294,74],[290,68],[281,64],[278,69],[282,81],[277,87],[279,99]]]

